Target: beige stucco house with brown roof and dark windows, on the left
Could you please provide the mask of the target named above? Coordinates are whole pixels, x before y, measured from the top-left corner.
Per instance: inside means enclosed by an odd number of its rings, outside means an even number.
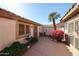
[[[0,50],[29,36],[39,37],[41,24],[0,8]]]

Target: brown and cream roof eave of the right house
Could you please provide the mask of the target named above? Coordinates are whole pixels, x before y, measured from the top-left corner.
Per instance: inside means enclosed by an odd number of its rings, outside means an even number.
[[[77,15],[78,13],[79,13],[79,5],[75,4],[60,21],[66,22],[73,16]]]

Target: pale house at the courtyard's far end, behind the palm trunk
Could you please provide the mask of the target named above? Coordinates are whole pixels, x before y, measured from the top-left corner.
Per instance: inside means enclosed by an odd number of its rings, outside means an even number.
[[[54,30],[53,24],[43,25],[41,27],[42,27],[42,33],[46,32],[47,35],[50,34],[49,31]],[[60,23],[56,24],[56,27],[58,30],[64,31],[64,22],[60,22]]]

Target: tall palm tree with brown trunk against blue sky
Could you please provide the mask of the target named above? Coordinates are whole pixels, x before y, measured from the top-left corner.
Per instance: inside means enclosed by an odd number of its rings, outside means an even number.
[[[59,17],[60,17],[60,14],[57,12],[53,12],[48,15],[49,21],[50,22],[53,21],[54,30],[56,30],[55,19],[58,19]]]

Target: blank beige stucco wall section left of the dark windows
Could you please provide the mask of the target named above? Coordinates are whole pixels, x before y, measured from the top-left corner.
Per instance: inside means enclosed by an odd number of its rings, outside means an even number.
[[[0,18],[0,50],[12,44],[16,39],[16,21]]]

